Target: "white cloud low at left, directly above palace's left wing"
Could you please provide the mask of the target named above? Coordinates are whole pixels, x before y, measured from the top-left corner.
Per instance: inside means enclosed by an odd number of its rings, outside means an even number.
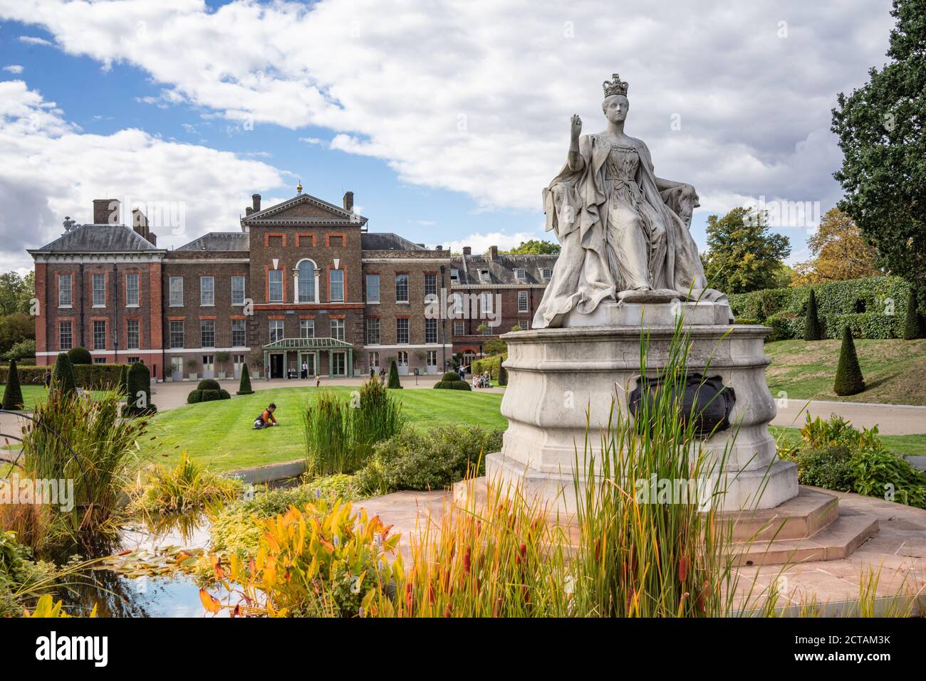
[[[208,230],[236,229],[253,192],[284,184],[263,162],[144,130],[83,134],[22,80],[0,81],[0,158],[4,270],[28,266],[25,249],[59,236],[65,216],[92,221],[94,199],[182,206],[183,229],[153,229],[169,248]]]

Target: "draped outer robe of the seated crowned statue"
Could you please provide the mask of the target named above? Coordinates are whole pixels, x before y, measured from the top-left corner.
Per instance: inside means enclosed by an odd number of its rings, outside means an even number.
[[[656,275],[651,287],[678,291],[682,300],[726,300],[720,291],[705,288],[707,281],[697,246],[682,218],[659,195],[649,149],[640,140],[630,138],[630,142],[640,156],[636,181],[666,235],[656,249],[650,249],[647,268],[651,276]],[[567,163],[544,189],[546,230],[557,234],[562,250],[533,317],[533,328],[561,326],[563,316],[569,311],[589,314],[603,300],[616,299],[620,291],[622,282],[611,266],[614,261],[611,249],[619,246],[608,242],[605,163],[610,151],[611,142],[607,139],[582,135],[579,139],[582,169],[573,171]]]

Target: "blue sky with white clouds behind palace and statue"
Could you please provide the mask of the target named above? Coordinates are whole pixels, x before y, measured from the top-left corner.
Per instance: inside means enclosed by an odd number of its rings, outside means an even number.
[[[764,205],[794,263],[840,198],[836,94],[886,57],[889,0],[0,0],[0,271],[95,198],[159,211],[158,245],[304,192],[371,231],[481,253],[544,233],[569,117],[694,185],[692,233]],[[806,202],[809,202],[807,204]],[[795,212],[805,208],[803,213]],[[777,211],[777,212],[774,212]],[[790,218],[785,218],[787,216]],[[149,215],[149,217],[151,217]]]

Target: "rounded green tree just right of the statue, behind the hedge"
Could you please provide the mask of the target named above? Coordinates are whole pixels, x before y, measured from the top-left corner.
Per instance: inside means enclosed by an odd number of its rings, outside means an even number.
[[[704,271],[708,286],[724,293],[775,287],[782,260],[791,254],[788,238],[770,231],[764,212],[733,208],[707,217]]]

